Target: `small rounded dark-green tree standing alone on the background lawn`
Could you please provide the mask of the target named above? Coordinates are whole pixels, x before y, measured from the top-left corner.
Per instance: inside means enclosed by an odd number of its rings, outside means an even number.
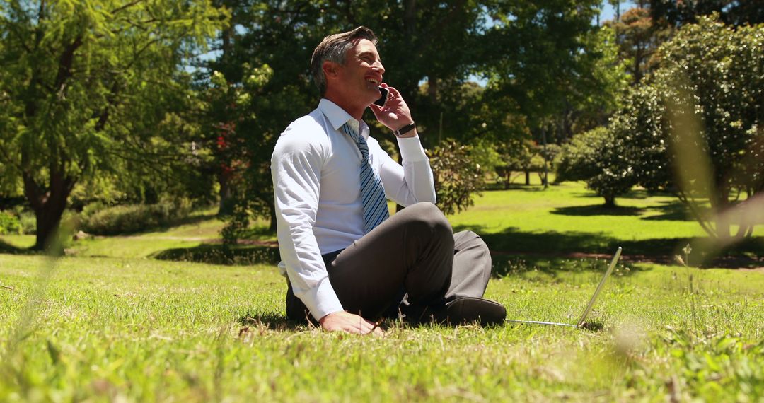
[[[615,205],[615,198],[636,184],[623,145],[604,127],[578,134],[562,147],[556,180],[586,181],[589,189],[605,198],[605,205]]]

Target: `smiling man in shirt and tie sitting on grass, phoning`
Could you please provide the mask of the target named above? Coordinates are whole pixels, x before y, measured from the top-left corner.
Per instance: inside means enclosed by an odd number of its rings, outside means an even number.
[[[481,298],[488,248],[471,231],[453,234],[433,204],[429,160],[408,105],[382,81],[376,43],[366,27],[322,40],[310,63],[323,98],[271,157],[286,314],[356,334],[380,333],[374,320],[400,314],[501,324],[504,307]],[[372,104],[380,86],[384,107]],[[397,137],[403,166],[369,137],[366,108]],[[407,207],[389,217],[387,198]]]

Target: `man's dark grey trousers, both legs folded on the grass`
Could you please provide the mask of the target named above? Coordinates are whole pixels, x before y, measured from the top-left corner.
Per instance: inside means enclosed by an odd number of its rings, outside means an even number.
[[[472,231],[453,234],[432,203],[410,205],[344,250],[323,257],[342,307],[368,319],[482,297],[490,278],[484,241]],[[311,318],[291,286],[286,316]]]

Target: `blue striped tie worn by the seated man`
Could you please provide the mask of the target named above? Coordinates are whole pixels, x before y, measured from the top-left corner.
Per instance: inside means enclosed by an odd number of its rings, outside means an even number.
[[[382,180],[369,163],[369,146],[363,136],[354,131],[349,124],[342,125],[342,131],[353,139],[361,150],[361,202],[364,204],[364,229],[368,233],[382,221],[390,218],[387,211],[387,198],[384,196]]]

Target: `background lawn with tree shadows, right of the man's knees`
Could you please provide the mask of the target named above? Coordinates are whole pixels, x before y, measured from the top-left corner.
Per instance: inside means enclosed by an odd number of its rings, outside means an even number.
[[[455,231],[473,229],[491,250],[510,254],[613,253],[622,246],[626,255],[670,260],[688,243],[698,243],[697,238],[703,243],[706,237],[672,196],[634,190],[617,202],[617,208],[604,208],[603,199],[580,183],[565,182],[546,191],[536,186],[484,192],[473,208],[450,220]],[[740,253],[762,254],[764,225],[756,227],[754,236]],[[701,249],[696,245],[696,261],[707,260]]]

